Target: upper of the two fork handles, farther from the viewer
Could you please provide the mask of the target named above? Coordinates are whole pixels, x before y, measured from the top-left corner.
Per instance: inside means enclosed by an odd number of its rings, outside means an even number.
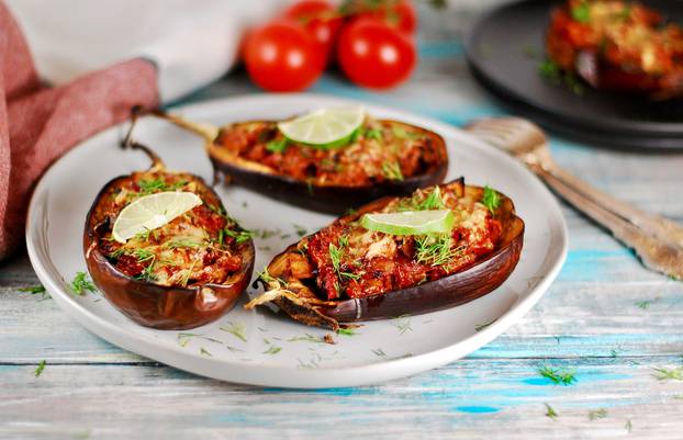
[[[539,167],[534,167],[539,168]],[[637,207],[613,198],[612,195],[587,184],[553,162],[545,163],[542,171],[552,176],[566,187],[581,193],[592,202],[613,212],[619,217],[647,230],[661,240],[683,248],[683,227],[660,215],[649,214]],[[538,172],[537,172],[538,173]],[[547,179],[544,179],[547,180]]]

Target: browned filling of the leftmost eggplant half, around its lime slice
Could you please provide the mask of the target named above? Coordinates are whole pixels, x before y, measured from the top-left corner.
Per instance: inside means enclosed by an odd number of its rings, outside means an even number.
[[[163,191],[193,192],[204,203],[125,245],[115,241],[111,229],[121,210]],[[237,247],[250,238],[225,214],[217,196],[189,173],[135,172],[107,189],[93,215],[94,224],[103,225],[98,246],[109,261],[128,277],[164,286],[223,283],[242,268]]]

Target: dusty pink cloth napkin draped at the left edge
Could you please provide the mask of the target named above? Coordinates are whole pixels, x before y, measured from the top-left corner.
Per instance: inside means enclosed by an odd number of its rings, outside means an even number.
[[[31,192],[47,167],[78,142],[126,120],[132,106],[155,108],[158,95],[156,69],[144,59],[46,87],[0,2],[0,260],[21,248]]]

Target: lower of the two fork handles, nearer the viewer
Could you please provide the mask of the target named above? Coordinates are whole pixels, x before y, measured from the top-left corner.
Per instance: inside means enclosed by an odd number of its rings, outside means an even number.
[[[614,214],[600,202],[586,198],[548,170],[535,167],[534,171],[558,195],[605,227],[624,245],[634,249],[647,267],[669,277],[683,279],[683,248],[646,233],[635,224]]]

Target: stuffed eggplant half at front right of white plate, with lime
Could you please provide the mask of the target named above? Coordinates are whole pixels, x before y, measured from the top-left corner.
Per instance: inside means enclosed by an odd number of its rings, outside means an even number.
[[[463,180],[384,198],[302,238],[264,271],[272,303],[301,323],[393,318],[452,307],[497,287],[519,259],[513,202]]]

